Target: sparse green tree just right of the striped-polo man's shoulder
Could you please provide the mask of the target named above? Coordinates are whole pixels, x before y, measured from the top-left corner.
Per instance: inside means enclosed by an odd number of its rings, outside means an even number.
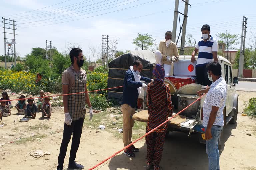
[[[238,34],[230,34],[230,32],[228,32],[227,30],[225,33],[217,32],[216,36],[219,38],[218,42],[225,43],[226,51],[228,51],[230,49],[235,49],[234,45],[237,45],[239,43],[237,41],[239,39],[239,35]],[[228,53],[227,53],[226,58],[228,59]]]

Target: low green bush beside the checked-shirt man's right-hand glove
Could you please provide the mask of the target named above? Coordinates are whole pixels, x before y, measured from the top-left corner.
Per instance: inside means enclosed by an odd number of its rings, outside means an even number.
[[[111,103],[109,103],[105,96],[103,96],[102,94],[89,93],[89,97],[92,108],[95,110],[106,111],[106,109],[111,105]]]

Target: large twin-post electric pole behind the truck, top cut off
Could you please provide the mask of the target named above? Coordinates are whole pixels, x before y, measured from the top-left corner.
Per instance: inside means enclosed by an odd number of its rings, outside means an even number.
[[[179,12],[179,0],[175,1],[175,9],[174,9],[174,18],[173,18],[173,28],[172,28],[172,42],[176,42],[178,44],[179,38],[181,37],[181,46],[180,46],[180,54],[184,54],[184,45],[185,45],[185,38],[186,38],[186,27],[187,27],[187,18],[188,18],[188,6],[191,6],[188,3],[188,0],[181,0],[185,2],[184,14]],[[181,24],[180,21],[180,14],[183,15],[183,22]],[[179,24],[180,24],[180,32],[178,39],[176,41],[176,31],[177,31],[177,23],[178,23],[178,16],[179,16]],[[182,34],[181,34],[182,33]]]

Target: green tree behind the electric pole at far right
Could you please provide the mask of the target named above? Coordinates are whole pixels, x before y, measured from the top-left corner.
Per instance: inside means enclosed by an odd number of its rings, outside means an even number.
[[[251,57],[252,57],[252,48],[245,48],[244,50],[244,69],[249,68],[251,64]],[[235,63],[233,65],[234,69],[238,69],[239,67],[239,57],[240,57],[240,49],[236,53]]]

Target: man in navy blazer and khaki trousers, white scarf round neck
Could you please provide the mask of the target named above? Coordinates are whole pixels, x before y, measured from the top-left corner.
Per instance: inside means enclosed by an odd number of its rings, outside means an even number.
[[[140,82],[140,80],[146,82],[152,82],[153,80],[147,77],[140,76],[142,70],[142,62],[139,60],[134,61],[133,66],[130,66],[130,69],[126,71],[124,77],[124,90],[123,90],[123,100],[122,100],[122,113],[123,113],[123,142],[124,146],[127,146],[131,143],[132,139],[132,127],[133,120],[132,116],[135,113],[135,107],[138,100],[138,88],[142,87],[145,89],[147,85]],[[135,148],[133,145],[125,149],[124,154],[129,157],[135,157],[133,152],[139,151],[138,148]]]

